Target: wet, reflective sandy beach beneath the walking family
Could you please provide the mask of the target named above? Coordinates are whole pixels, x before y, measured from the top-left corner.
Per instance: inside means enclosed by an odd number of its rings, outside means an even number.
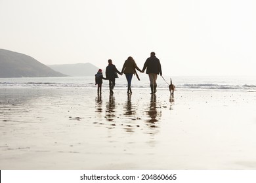
[[[0,169],[256,169],[256,93],[0,88]]]

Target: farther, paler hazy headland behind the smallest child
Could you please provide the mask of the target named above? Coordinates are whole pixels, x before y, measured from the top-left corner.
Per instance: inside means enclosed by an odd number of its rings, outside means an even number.
[[[47,65],[54,71],[58,71],[69,76],[95,76],[98,67],[91,63],[75,63],[62,65]]]

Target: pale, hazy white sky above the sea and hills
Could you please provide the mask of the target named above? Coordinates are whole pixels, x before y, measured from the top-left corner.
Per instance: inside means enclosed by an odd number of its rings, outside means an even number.
[[[0,0],[0,49],[45,65],[117,68],[150,52],[163,75],[251,75],[255,0]]]

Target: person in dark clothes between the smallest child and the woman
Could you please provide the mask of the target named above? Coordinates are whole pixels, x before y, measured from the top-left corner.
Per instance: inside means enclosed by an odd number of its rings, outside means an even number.
[[[112,63],[112,60],[108,60],[108,66],[106,67],[106,79],[109,80],[110,83],[110,94],[113,95],[113,89],[116,85],[116,78],[118,78],[117,73],[122,75],[117,69],[116,65]]]

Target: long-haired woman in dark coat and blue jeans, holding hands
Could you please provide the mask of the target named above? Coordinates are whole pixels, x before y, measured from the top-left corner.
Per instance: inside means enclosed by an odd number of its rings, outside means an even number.
[[[142,72],[139,67],[137,67],[135,60],[132,57],[127,58],[127,60],[125,60],[125,63],[123,64],[123,69],[121,71],[121,73],[124,73],[128,82],[128,89],[127,89],[127,93],[132,93],[131,92],[131,79],[133,78],[133,74],[135,74],[136,70],[140,71],[140,73]]]

